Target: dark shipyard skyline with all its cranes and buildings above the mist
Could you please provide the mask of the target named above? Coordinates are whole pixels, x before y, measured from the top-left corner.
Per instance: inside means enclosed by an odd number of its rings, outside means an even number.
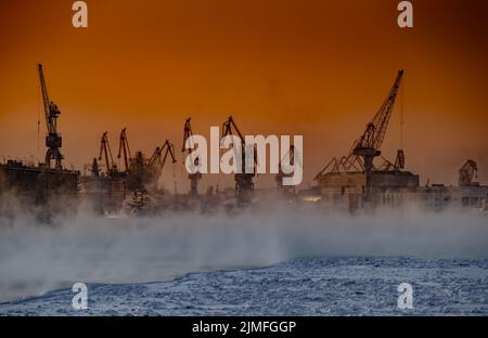
[[[249,206],[255,205],[269,192],[255,190],[254,173],[234,174],[234,188],[220,191],[217,186],[208,187],[205,194],[198,192],[202,173],[191,173],[190,191],[180,195],[169,192],[158,184],[163,169],[167,164],[177,164],[175,145],[165,140],[155,147],[150,157],[141,151],[132,154],[128,131],[121,129],[118,138],[117,159],[121,160],[119,168],[114,159],[107,132],[101,133],[98,156],[86,167],[86,174],[68,170],[63,166],[62,136],[57,130],[57,118],[61,112],[56,104],[50,101],[42,65],[38,65],[38,76],[41,89],[43,110],[46,115],[46,157],[37,166],[22,161],[8,160],[0,164],[0,194],[15,196],[22,206],[31,208],[42,218],[50,219],[52,214],[76,210],[80,206],[90,208],[101,214],[119,212],[121,210],[134,213],[159,213],[164,210],[181,210],[200,208],[209,212],[216,206]],[[385,140],[388,123],[398,96],[403,70],[399,70],[380,109],[367,123],[364,131],[352,145],[347,155],[332,158],[314,178],[317,186],[296,191],[294,186],[282,184],[283,177],[290,173],[280,172],[275,177],[278,190],[272,192],[273,198],[288,203],[303,204],[313,202],[323,210],[342,210],[357,212],[377,207],[399,207],[415,204],[428,210],[445,208],[487,209],[488,187],[474,181],[478,170],[475,160],[468,159],[459,170],[459,185],[442,184],[420,185],[420,176],[406,170],[406,155],[398,150],[396,159],[390,161],[382,155],[381,146]],[[191,142],[193,130],[191,118],[183,125],[182,153],[189,152],[185,146]],[[222,123],[222,138],[235,135],[245,146],[245,138],[234,118],[230,116]],[[244,166],[244,148],[242,164]],[[303,158],[296,154],[292,145],[281,160],[293,164]],[[194,158],[197,166],[198,158]],[[256,169],[256,158],[254,166]],[[281,168],[281,166],[280,166]],[[256,171],[256,170],[255,170]],[[254,171],[254,172],[255,172]],[[0,213],[12,210],[1,198]],[[232,200],[232,204],[229,204]]]

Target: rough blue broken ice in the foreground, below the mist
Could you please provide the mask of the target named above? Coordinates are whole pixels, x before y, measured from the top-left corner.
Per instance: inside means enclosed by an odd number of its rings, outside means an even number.
[[[413,309],[397,307],[401,283]],[[88,284],[0,304],[0,315],[488,315],[488,260],[303,258],[188,273],[164,283]]]

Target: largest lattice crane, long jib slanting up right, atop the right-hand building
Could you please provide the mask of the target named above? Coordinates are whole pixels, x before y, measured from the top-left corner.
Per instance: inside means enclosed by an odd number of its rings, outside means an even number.
[[[382,152],[380,151],[383,140],[385,139],[402,77],[403,70],[400,69],[398,70],[397,78],[382,106],[374,115],[373,119],[367,125],[362,135],[352,143],[349,154],[341,158],[332,158],[325,168],[316,176],[316,180],[320,180],[320,178],[328,172],[362,171],[365,177],[364,200],[368,202],[370,200],[373,187],[371,179],[371,172],[373,170],[383,169],[398,171],[404,168],[404,153],[402,150],[398,150],[395,164],[391,164],[381,156]],[[378,156],[382,157],[384,162],[381,167],[376,168],[374,167],[373,160]]]

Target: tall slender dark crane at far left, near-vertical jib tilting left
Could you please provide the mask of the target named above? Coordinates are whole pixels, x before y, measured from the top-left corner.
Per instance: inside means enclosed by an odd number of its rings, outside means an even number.
[[[61,114],[57,105],[49,100],[48,87],[44,80],[44,74],[42,72],[42,65],[37,66],[39,72],[39,80],[42,92],[42,101],[46,114],[46,123],[48,127],[48,135],[46,136],[46,146],[48,151],[46,153],[46,166],[51,168],[51,160],[54,160],[54,169],[62,170],[63,155],[61,155],[60,148],[63,145],[61,135],[57,133],[57,116]]]

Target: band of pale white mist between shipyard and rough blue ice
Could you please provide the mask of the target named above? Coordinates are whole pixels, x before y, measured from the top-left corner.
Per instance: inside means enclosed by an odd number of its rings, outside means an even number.
[[[290,207],[37,224],[0,218],[0,300],[74,283],[168,281],[188,272],[264,266],[310,256],[488,258],[488,218],[415,209],[330,214]]]

